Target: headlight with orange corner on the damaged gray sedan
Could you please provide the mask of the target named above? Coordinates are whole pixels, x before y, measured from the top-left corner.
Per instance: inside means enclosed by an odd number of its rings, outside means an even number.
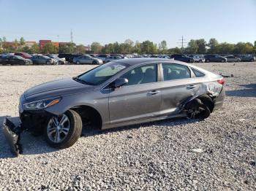
[[[53,106],[58,104],[61,101],[61,98],[50,98],[50,99],[43,99],[39,101],[32,101],[28,104],[23,104],[25,109],[34,110],[34,109],[45,109],[49,106]]]

